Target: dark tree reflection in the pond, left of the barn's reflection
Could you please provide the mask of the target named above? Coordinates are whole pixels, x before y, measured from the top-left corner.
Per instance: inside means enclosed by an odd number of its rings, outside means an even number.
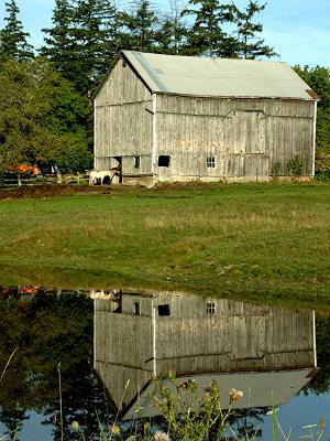
[[[92,437],[98,419],[111,418],[92,370],[92,300],[82,292],[38,290],[22,297],[18,289],[0,289],[1,367],[19,347],[0,388],[0,422],[7,432],[19,432],[33,409],[53,427],[53,439],[61,439],[59,363],[64,434],[78,420],[86,437]]]

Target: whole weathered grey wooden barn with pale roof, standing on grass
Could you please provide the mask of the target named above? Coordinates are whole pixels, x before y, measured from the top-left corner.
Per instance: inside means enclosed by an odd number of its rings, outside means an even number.
[[[318,97],[286,64],[122,51],[95,94],[95,168],[123,183],[314,175]]]

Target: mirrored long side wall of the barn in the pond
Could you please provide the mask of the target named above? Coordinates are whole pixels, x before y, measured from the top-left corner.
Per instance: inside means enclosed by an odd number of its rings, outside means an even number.
[[[158,375],[314,366],[312,312],[194,295],[168,301],[172,315],[157,322]]]

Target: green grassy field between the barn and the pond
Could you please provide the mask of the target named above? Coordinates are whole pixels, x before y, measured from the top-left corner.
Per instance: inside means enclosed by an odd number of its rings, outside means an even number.
[[[0,201],[0,283],[180,289],[330,309],[330,185]]]

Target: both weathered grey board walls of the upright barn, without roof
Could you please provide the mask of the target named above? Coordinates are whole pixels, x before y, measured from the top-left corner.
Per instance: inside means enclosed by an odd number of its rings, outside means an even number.
[[[302,176],[311,176],[314,129],[315,100],[152,93],[123,56],[95,98],[95,165],[108,170],[120,157],[124,183],[260,181],[275,163],[289,175],[298,157]],[[160,155],[170,158],[168,166]]]

